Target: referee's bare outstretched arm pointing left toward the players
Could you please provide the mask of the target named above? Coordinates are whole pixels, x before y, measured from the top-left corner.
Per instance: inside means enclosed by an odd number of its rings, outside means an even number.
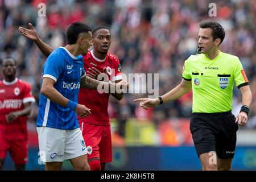
[[[184,94],[188,93],[189,90],[191,90],[191,81],[182,79],[179,85],[162,96],[163,102],[177,100],[178,98],[184,96]],[[134,102],[141,102],[141,107],[146,110],[148,107],[155,107],[160,104],[159,98],[138,98],[134,100]]]

